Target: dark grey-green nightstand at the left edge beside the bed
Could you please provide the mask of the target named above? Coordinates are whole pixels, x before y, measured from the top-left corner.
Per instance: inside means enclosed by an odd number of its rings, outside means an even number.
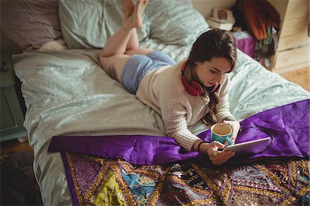
[[[23,127],[23,112],[17,92],[14,89],[14,70],[10,52],[1,52],[1,121],[0,141],[18,138],[20,142],[27,140],[27,132]]]

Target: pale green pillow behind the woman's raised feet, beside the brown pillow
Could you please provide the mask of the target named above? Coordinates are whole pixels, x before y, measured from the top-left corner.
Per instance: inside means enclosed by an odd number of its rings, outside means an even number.
[[[123,22],[117,0],[59,0],[59,17],[69,49],[103,48]],[[140,41],[149,36],[147,17],[143,22],[143,27],[137,30]]]

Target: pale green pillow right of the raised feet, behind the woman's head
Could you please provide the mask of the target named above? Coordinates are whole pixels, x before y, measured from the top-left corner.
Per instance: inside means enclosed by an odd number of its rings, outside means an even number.
[[[187,1],[152,0],[145,14],[151,22],[151,39],[163,43],[192,46],[209,29],[203,15]]]

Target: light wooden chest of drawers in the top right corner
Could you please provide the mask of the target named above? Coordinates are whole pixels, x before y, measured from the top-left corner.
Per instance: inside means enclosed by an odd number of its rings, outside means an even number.
[[[281,17],[276,54],[271,70],[289,72],[309,66],[309,0],[269,0]]]

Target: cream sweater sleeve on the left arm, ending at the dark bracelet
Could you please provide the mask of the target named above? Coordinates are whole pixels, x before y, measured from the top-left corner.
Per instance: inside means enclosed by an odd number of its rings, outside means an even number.
[[[187,128],[187,110],[183,105],[178,103],[172,107],[172,111],[169,114],[171,116],[163,118],[167,136],[173,137],[185,150],[191,151],[194,143],[200,140],[200,138],[192,134]]]

